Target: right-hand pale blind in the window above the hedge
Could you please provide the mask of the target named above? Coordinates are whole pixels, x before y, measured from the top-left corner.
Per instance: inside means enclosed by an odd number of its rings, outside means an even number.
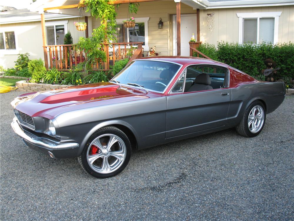
[[[259,39],[258,42],[274,42],[274,18],[260,18],[259,19]]]

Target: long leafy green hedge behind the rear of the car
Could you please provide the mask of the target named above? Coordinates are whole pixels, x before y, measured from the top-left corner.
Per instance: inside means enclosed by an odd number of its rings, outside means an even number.
[[[201,44],[200,52],[213,60],[223,62],[237,68],[248,75],[265,80],[261,70],[266,69],[264,61],[271,58],[277,63],[280,70],[274,74],[275,81],[284,82],[290,88],[294,88],[294,43],[260,43],[260,44],[238,44],[218,42],[214,44]],[[197,56],[196,53],[193,56]]]

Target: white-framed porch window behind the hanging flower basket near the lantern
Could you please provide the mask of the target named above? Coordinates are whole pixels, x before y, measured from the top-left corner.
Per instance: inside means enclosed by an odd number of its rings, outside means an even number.
[[[126,28],[123,26],[123,20],[117,19],[117,42],[143,42],[144,50],[149,50],[148,48],[148,20],[149,18],[138,18],[136,19],[135,27]],[[136,44],[135,44],[136,45]]]

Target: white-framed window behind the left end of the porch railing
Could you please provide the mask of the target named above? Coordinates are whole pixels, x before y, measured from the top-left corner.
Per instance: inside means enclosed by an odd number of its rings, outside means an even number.
[[[46,38],[48,45],[64,44],[64,36],[67,33],[67,22],[46,22]]]

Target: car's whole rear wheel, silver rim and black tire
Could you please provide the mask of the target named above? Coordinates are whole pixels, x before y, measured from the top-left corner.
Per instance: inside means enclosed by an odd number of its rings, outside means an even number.
[[[243,118],[236,127],[237,132],[242,136],[257,136],[263,129],[265,123],[265,108],[260,101],[252,102],[245,110]]]

